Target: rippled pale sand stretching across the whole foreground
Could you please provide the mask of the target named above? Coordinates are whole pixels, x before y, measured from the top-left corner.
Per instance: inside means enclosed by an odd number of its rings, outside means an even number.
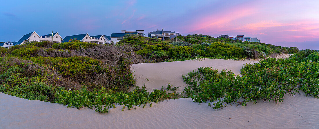
[[[0,128],[319,128],[319,99],[303,95],[286,95],[279,104],[259,101],[218,111],[191,98],[121,109],[99,114],[0,92]]]

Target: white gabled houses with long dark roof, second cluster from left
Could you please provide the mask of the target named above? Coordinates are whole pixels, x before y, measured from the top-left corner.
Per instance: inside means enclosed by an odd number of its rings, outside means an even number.
[[[63,43],[69,42],[69,41],[71,41],[71,39],[77,39],[80,42],[90,42],[90,43],[96,43],[96,44],[109,44],[109,43],[111,43],[110,36],[107,36],[107,35],[90,36],[88,33],[66,36],[63,39]]]

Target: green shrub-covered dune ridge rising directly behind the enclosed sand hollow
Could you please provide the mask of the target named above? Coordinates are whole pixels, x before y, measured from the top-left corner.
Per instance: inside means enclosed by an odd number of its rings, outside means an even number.
[[[178,61],[194,58],[246,59],[266,55],[296,53],[296,47],[278,47],[270,44],[214,38],[208,35],[179,36],[161,41],[140,35],[125,35],[119,45],[132,45],[134,51],[155,62]]]

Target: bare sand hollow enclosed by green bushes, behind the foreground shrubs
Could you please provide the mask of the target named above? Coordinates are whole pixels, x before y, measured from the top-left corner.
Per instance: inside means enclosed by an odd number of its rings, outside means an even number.
[[[212,67],[233,71],[236,75],[240,74],[240,69],[245,63],[256,63],[255,60],[235,61],[235,60],[222,60],[222,59],[205,59],[175,61],[175,62],[162,62],[162,63],[142,63],[133,64],[133,75],[137,78],[137,86],[143,86],[145,83],[146,89],[151,92],[152,89],[160,89],[162,86],[170,85],[180,87],[179,91],[183,91],[186,86],[183,82],[182,75],[187,75],[188,72],[196,70],[199,67]]]

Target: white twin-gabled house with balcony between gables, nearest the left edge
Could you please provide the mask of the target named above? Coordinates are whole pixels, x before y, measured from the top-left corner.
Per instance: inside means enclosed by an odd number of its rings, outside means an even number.
[[[31,41],[37,41],[37,42],[41,42],[41,41],[52,41],[53,38],[53,42],[59,42],[61,43],[61,41],[63,40],[62,37],[60,36],[60,34],[58,32],[53,33],[53,37],[52,37],[52,33],[51,34],[47,34],[44,36],[39,36],[37,34],[37,32],[31,32],[28,33],[26,35],[23,35],[22,38],[18,41],[17,44],[15,45],[20,45],[20,44],[24,44],[26,42],[31,42]]]

